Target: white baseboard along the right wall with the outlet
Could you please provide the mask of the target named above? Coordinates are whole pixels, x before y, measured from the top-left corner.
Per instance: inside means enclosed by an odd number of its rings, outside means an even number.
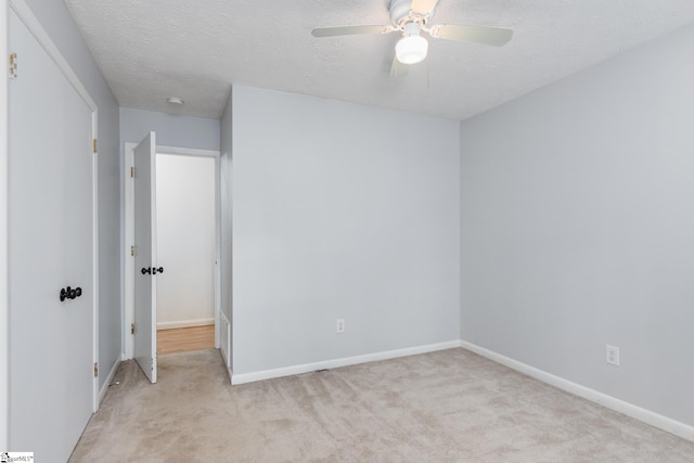
[[[651,410],[634,406],[633,403],[625,402],[624,400],[607,396],[606,394],[599,393],[597,390],[581,386],[580,384],[573,383],[568,380],[564,380],[563,377],[555,376],[551,373],[536,369],[535,366],[530,366],[517,360],[513,360],[509,357],[504,357],[500,353],[485,349],[484,347],[479,347],[466,340],[461,340],[460,346],[472,352],[486,357],[487,359],[492,360],[497,363],[501,363],[502,365],[509,366],[510,369],[516,370],[530,377],[557,387],[562,390],[566,390],[567,393],[582,397],[583,399],[588,399],[591,402],[599,403],[611,410],[622,413],[627,416],[631,416],[646,424],[650,424],[651,426],[655,426],[659,429],[682,437],[686,440],[694,441],[693,426],[652,412]]]

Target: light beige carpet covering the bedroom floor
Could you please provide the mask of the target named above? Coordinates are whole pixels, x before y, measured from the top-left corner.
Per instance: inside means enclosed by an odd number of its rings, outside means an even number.
[[[72,462],[693,462],[694,442],[464,349],[230,386],[217,350],[124,362]]]

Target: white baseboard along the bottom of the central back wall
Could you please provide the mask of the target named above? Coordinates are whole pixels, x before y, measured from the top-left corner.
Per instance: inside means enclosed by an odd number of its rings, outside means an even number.
[[[342,359],[324,360],[314,363],[304,363],[293,366],[284,366],[273,370],[264,370],[253,373],[232,374],[231,384],[245,384],[256,381],[271,380],[274,377],[292,376],[295,374],[309,373],[323,369],[336,369],[339,366],[354,365],[358,363],[375,362],[378,360],[395,359],[398,357],[414,356],[417,353],[433,352],[435,350],[452,349],[460,347],[460,340],[449,340],[447,343],[429,344],[426,346],[408,347],[404,349],[386,350],[383,352],[367,353],[364,356],[345,357]],[[230,370],[231,373],[231,370]]]

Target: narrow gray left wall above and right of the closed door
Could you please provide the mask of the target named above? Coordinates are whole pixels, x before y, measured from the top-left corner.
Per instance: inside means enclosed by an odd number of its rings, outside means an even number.
[[[99,106],[99,364],[100,386],[120,360],[118,104],[65,3],[26,0]],[[46,385],[50,387],[49,385]]]

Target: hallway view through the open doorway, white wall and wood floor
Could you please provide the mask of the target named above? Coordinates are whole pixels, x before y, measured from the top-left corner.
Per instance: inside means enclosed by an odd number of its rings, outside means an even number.
[[[215,347],[214,157],[156,154],[156,353]]]

